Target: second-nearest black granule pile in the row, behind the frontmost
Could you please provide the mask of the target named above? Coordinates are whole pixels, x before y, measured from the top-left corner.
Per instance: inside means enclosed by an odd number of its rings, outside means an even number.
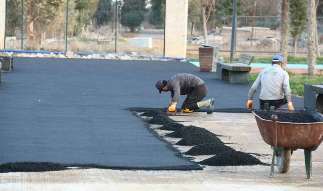
[[[196,156],[205,154],[219,154],[233,151],[235,151],[233,148],[225,146],[223,143],[207,143],[194,146],[184,154]]]

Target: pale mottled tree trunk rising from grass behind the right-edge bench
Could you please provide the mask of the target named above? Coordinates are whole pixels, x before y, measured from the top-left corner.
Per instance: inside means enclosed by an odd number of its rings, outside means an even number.
[[[316,17],[316,9],[315,9],[315,0],[308,0],[307,1],[307,62],[308,62],[308,76],[314,77],[315,72],[315,30],[316,29],[316,23],[315,23],[315,17]]]

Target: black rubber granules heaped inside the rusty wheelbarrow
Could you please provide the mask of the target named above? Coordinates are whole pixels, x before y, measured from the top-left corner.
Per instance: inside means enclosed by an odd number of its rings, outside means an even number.
[[[291,123],[314,123],[317,122],[311,115],[301,112],[284,112],[279,110],[254,110],[262,119],[271,120],[273,114],[277,115],[278,122],[291,122]]]

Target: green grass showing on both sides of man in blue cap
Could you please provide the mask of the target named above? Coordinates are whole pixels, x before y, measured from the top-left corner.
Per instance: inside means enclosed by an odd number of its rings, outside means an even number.
[[[250,74],[250,82],[254,82],[259,73]],[[316,75],[314,78],[309,78],[307,74],[295,74],[288,72],[289,85],[293,95],[304,97],[304,84],[323,84],[323,75]]]

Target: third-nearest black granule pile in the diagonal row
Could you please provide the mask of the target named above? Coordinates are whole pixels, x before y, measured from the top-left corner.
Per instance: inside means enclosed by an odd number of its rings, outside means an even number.
[[[216,136],[212,136],[210,134],[197,133],[197,134],[191,134],[184,137],[179,142],[177,142],[176,145],[193,146],[193,145],[206,144],[206,143],[221,144],[223,142]]]

